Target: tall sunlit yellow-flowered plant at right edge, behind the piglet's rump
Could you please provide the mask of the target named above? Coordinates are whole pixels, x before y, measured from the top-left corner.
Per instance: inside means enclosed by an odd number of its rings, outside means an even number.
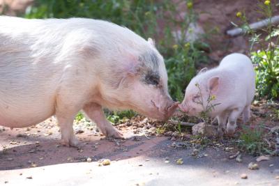
[[[245,13],[236,13],[244,23],[241,28],[244,33],[250,36],[250,56],[255,64],[257,74],[256,86],[260,97],[279,98],[279,27],[271,24],[273,7],[276,7],[271,1],[258,3],[258,12],[267,17],[266,29],[262,33],[257,33],[251,29]],[[255,48],[257,52],[253,52]]]

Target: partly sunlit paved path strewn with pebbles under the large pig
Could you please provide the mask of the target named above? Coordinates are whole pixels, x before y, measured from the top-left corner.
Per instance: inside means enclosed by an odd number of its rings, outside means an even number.
[[[104,139],[95,127],[81,131],[77,137],[84,146],[79,150],[60,146],[54,121],[5,128],[0,133],[0,185],[279,185],[279,157],[249,170],[256,157],[243,155],[241,163],[229,160],[232,149],[222,146],[195,150],[131,130],[125,130],[126,140]],[[183,164],[176,164],[179,158]],[[101,159],[111,164],[98,166]],[[242,173],[248,179],[241,179]]]

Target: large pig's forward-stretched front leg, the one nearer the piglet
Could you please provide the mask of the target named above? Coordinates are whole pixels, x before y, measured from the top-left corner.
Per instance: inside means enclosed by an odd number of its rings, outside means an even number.
[[[100,131],[105,134],[108,137],[116,137],[116,138],[123,138],[123,135],[121,132],[116,130],[112,126],[112,124],[107,121],[105,118],[105,114],[103,112],[102,107],[100,104],[96,103],[90,103],[86,104],[83,108],[85,114],[96,123],[97,127],[100,129]]]

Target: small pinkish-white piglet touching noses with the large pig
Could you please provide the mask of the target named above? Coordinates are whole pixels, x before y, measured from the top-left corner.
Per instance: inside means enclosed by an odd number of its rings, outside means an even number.
[[[199,85],[199,88],[197,87]],[[230,54],[220,62],[217,68],[202,69],[186,88],[185,98],[179,107],[190,116],[204,111],[209,95],[217,104],[209,115],[218,118],[218,133],[233,134],[236,120],[243,113],[243,122],[250,118],[250,104],[255,95],[255,71],[252,62],[243,54]],[[203,104],[198,104],[203,100]],[[227,124],[227,126],[226,126]]]

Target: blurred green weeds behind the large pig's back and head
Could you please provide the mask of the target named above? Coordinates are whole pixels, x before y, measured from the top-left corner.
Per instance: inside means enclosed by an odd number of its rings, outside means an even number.
[[[181,17],[177,4],[183,1],[188,11]],[[184,88],[195,75],[195,65],[206,61],[201,49],[208,47],[206,43],[186,42],[186,33],[192,31],[190,24],[197,20],[191,0],[176,3],[167,0],[38,0],[27,8],[24,17],[91,17],[126,26],[144,38],[154,38],[156,47],[165,57],[169,93],[179,101],[183,99]],[[178,30],[181,34],[175,37],[173,32]]]

